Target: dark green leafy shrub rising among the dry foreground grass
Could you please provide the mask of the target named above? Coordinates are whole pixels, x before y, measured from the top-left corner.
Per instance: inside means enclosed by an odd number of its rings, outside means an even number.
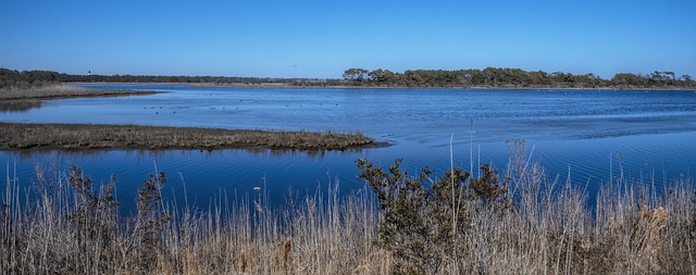
[[[417,177],[400,171],[400,159],[384,171],[360,159],[356,163],[380,203],[378,246],[395,254],[397,270],[433,274],[445,260],[461,253],[458,246],[470,228],[472,211],[512,208],[497,172],[481,167],[481,177],[452,168],[434,180],[425,166]]]

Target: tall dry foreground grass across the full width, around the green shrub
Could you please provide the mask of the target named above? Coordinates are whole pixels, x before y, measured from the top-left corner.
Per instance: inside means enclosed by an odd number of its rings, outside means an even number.
[[[523,158],[521,158],[523,160]],[[464,200],[467,227],[446,241],[415,246],[422,266],[381,245],[385,217],[370,190],[308,195],[273,208],[260,192],[216,198],[209,210],[167,205],[163,174],[138,192],[138,214],[120,217],[110,186],[79,168],[37,173],[36,198],[20,203],[8,177],[0,223],[3,274],[693,274],[696,196],[687,179],[669,189],[618,178],[589,208],[582,191],[547,182],[519,162],[504,173],[509,211]],[[452,195],[453,196],[453,195]],[[222,201],[222,203],[221,203]],[[224,202],[232,201],[233,207]],[[184,210],[181,210],[184,209]],[[437,224],[425,226],[436,229]],[[430,229],[428,229],[430,228]],[[405,228],[406,229],[406,228]],[[442,229],[442,228],[440,228]],[[446,233],[446,230],[445,230]],[[413,240],[405,240],[413,241]],[[415,251],[414,250],[414,251]],[[434,262],[432,259],[442,259]],[[401,267],[399,267],[401,266]]]

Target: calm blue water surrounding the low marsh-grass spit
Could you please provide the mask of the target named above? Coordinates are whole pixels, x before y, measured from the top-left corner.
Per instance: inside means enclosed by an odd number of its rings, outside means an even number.
[[[94,87],[94,86],[92,86]],[[97,86],[113,88],[113,86]],[[446,90],[446,89],[246,89],[184,86],[117,86],[166,91],[152,96],[49,100],[3,122],[113,123],[251,129],[360,132],[394,143],[387,148],[323,153],[270,150],[175,150],[108,152],[0,152],[16,165],[21,183],[35,179],[35,165],[51,173],[77,164],[97,182],[119,178],[119,200],[132,210],[139,185],[156,168],[169,175],[171,200],[207,207],[212,198],[253,195],[266,188],[282,201],[340,182],[362,188],[355,160],[389,165],[403,158],[417,173],[455,164],[493,163],[505,170],[507,142],[524,139],[549,178],[587,186],[593,195],[609,180],[620,152],[631,178],[657,184],[691,176],[696,167],[696,91]],[[473,149],[473,150],[472,150]],[[611,158],[614,158],[611,161]],[[569,173],[570,171],[570,173]],[[0,171],[5,178],[7,170]],[[2,188],[4,189],[4,188]]]

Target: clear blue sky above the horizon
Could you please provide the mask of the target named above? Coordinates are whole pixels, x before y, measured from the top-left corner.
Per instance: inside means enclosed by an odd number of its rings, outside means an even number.
[[[696,0],[0,0],[0,67],[338,78],[349,67],[696,76]]]

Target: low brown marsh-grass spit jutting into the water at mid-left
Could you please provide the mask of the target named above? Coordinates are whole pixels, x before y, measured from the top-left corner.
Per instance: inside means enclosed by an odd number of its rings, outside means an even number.
[[[229,130],[192,127],[0,123],[0,149],[343,150],[376,146],[361,134]]]

